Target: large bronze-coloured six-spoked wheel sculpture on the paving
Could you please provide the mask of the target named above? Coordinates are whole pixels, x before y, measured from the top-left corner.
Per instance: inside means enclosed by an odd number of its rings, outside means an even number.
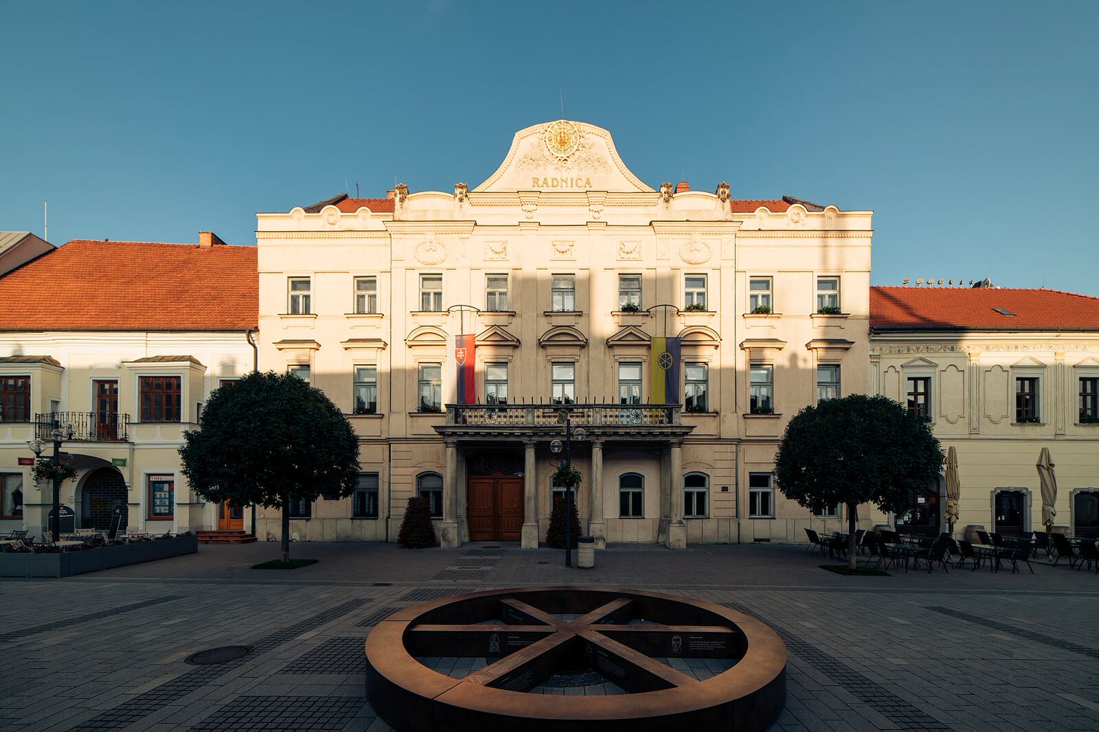
[[[423,603],[380,621],[366,639],[366,688],[402,732],[740,732],[777,719],[786,657],[770,628],[714,603],[522,587]],[[448,658],[466,664],[440,663]],[[487,665],[474,668],[474,660]],[[604,692],[552,688],[582,684]]]

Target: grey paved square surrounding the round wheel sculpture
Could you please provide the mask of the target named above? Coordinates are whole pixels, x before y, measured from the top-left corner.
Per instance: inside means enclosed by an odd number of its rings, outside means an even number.
[[[1033,575],[843,577],[796,545],[611,548],[595,570],[564,567],[558,551],[476,544],[292,550],[321,561],[258,572],[248,567],[277,545],[202,547],[69,579],[4,581],[0,729],[388,730],[364,697],[362,639],[374,623],[423,599],[537,584],[668,592],[764,619],[790,650],[776,730],[1099,729],[1095,573],[1039,562]],[[222,645],[252,652],[185,662]]]

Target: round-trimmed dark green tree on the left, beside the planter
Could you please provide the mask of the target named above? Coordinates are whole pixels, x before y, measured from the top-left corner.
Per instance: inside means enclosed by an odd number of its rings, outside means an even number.
[[[358,438],[347,417],[291,374],[253,372],[214,390],[179,455],[187,482],[207,500],[280,509],[287,563],[290,502],[345,498],[358,477]]]

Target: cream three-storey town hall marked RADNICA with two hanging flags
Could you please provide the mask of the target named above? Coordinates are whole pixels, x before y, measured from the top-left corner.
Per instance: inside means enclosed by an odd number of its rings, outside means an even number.
[[[392,541],[419,494],[444,545],[536,545],[560,406],[599,544],[840,528],[770,473],[798,408],[868,388],[869,212],[653,189],[562,120],[473,188],[257,219],[260,368],[309,379],[360,438],[359,491],[296,505],[298,538]],[[278,521],[260,508],[259,537]]]

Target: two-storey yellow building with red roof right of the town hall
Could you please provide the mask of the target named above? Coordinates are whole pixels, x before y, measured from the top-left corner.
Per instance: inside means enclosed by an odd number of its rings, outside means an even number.
[[[1055,525],[1099,536],[1099,299],[870,288],[870,314],[872,391],[906,402],[957,450],[958,532],[1044,530],[1035,465],[1048,448]],[[899,527],[943,527],[944,488],[917,495]]]

